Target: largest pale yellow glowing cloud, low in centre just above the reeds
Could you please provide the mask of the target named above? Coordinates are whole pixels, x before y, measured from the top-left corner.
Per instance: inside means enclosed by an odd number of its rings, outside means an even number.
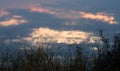
[[[48,33],[49,32],[49,33]],[[79,44],[82,42],[94,43],[95,39],[92,37],[94,34],[78,30],[60,31],[50,28],[37,28],[29,37],[24,39],[31,41],[32,44],[40,43],[66,43],[66,44]]]

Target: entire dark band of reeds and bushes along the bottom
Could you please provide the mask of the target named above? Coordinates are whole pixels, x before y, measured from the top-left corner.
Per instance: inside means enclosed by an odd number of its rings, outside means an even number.
[[[81,46],[71,53],[57,56],[52,49],[23,49],[12,53],[9,49],[0,52],[0,71],[120,71],[120,34],[109,38],[100,31],[102,46],[95,44],[97,57],[83,54]],[[2,48],[2,47],[1,47]]]

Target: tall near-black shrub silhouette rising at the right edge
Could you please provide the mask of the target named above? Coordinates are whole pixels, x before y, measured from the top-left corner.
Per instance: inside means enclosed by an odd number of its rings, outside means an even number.
[[[98,52],[99,56],[93,71],[120,71],[120,35],[116,34],[113,38],[113,45],[110,45],[109,39],[102,32],[100,34],[103,47]]]

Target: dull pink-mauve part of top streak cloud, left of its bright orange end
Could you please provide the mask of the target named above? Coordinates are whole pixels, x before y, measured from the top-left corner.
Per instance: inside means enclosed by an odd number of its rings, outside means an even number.
[[[79,13],[76,11],[67,11],[65,9],[54,9],[54,8],[44,8],[40,7],[32,7],[30,8],[31,12],[38,12],[38,13],[46,13],[50,15],[54,15],[58,18],[67,18],[67,19],[79,19]]]

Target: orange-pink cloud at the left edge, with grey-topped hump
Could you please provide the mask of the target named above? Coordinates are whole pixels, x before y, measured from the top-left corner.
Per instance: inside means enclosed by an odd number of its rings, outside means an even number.
[[[26,23],[26,22],[27,20],[24,20],[22,16],[14,15],[8,20],[0,21],[0,26],[4,26],[4,27],[14,26],[14,25],[19,25],[19,24]]]

